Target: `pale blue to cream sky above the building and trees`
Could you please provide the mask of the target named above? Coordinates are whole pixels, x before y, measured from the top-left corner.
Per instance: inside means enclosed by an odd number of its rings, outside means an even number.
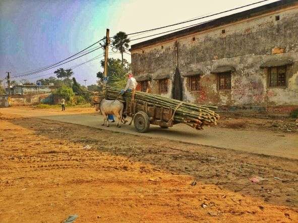
[[[61,61],[103,38],[106,28],[110,29],[110,36],[119,31],[134,33],[259,1],[0,0],[0,80],[7,76],[7,71],[10,71],[11,76],[14,76]],[[129,37],[134,39],[157,34],[272,2],[276,2],[276,0],[269,0],[203,20]],[[150,38],[135,40],[130,44]],[[109,51],[112,52],[111,49]],[[41,78],[54,76],[52,72],[58,68],[67,69],[102,54],[103,50],[98,49],[61,66],[12,80],[26,79],[35,82]],[[110,53],[109,57],[121,58],[121,54]],[[124,54],[124,57],[131,61],[129,54]],[[101,59],[103,57],[73,68],[74,77],[77,81],[84,84],[84,80],[87,80],[87,85],[96,84],[96,73],[102,71]]]

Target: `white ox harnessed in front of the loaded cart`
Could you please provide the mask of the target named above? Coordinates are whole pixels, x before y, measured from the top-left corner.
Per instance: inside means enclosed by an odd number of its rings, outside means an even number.
[[[109,126],[107,115],[114,115],[117,117],[117,127],[121,127],[121,122],[123,119],[122,113],[123,113],[124,105],[122,102],[118,100],[106,100],[102,99],[99,103],[98,107],[96,108],[96,111],[100,109],[101,114],[103,115],[103,123],[101,125],[104,125],[104,122],[107,122],[107,127]]]

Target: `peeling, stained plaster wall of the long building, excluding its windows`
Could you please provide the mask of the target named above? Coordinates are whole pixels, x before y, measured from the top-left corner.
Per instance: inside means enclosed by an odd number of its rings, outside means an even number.
[[[275,21],[279,15],[280,20]],[[225,34],[221,34],[221,30]],[[298,8],[284,9],[270,15],[225,25],[132,50],[133,73],[170,75],[169,93],[175,69],[181,75],[201,69],[200,91],[190,90],[189,78],[183,78],[183,100],[218,106],[298,105]],[[195,37],[195,41],[193,41]],[[276,54],[277,53],[277,54]],[[287,66],[286,88],[268,86],[264,61],[291,58]],[[232,65],[231,90],[218,90],[217,75],[211,70],[218,65]],[[158,94],[158,82],[152,82]]]

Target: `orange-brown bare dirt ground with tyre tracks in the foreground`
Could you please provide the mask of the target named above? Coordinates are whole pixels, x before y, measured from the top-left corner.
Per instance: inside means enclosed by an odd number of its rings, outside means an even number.
[[[0,147],[0,222],[298,220],[296,160],[15,115]]]

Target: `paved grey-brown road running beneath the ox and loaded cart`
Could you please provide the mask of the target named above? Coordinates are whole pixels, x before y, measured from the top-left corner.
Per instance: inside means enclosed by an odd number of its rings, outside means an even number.
[[[286,133],[256,128],[243,130],[222,127],[205,127],[203,131],[198,131],[187,125],[178,124],[168,129],[161,129],[159,126],[151,126],[150,132],[138,133],[133,125],[124,125],[122,128],[117,128],[116,124],[111,124],[109,128],[101,126],[102,116],[99,115],[98,112],[94,112],[92,108],[71,109],[71,111],[64,113],[59,109],[32,110],[31,108],[6,108],[0,109],[0,112],[80,124],[145,137],[167,138],[175,141],[211,145],[256,154],[298,159],[298,132]],[[246,123],[248,123],[248,121],[247,119]],[[242,121],[242,123],[243,122],[244,121]],[[224,123],[231,125],[229,120]],[[223,123],[220,123],[220,125],[223,125]],[[257,125],[262,126],[264,123],[259,122]]]

